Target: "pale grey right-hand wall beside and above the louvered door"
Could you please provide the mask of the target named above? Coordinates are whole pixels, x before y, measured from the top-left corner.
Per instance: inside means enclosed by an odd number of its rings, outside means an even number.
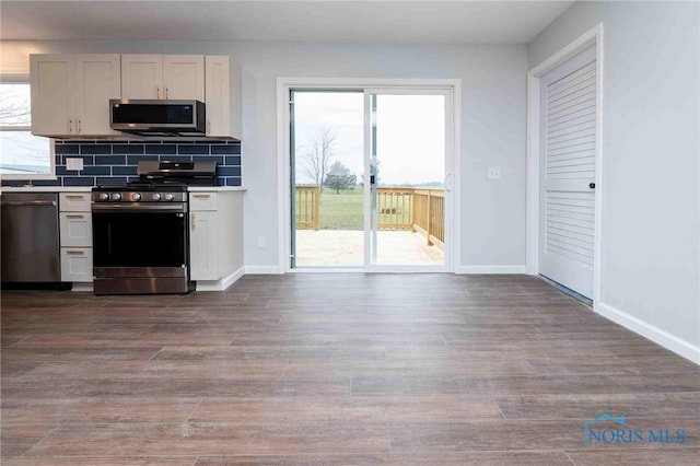
[[[700,3],[576,2],[529,67],[604,23],[599,311],[700,363]]]

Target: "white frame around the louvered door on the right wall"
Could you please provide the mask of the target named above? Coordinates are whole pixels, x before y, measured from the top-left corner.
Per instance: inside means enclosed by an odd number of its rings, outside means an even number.
[[[528,275],[539,275],[540,235],[540,81],[549,71],[595,46],[596,48],[596,159],[595,159],[595,237],[593,246],[593,308],[600,299],[602,212],[603,212],[603,23],[588,30],[561,50],[527,72],[527,199],[525,268]]]

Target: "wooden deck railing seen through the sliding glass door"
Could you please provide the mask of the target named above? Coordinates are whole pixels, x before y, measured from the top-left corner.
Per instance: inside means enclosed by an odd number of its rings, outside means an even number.
[[[296,186],[296,228],[320,228],[320,189],[313,185]],[[412,230],[428,244],[445,245],[445,191],[411,187],[377,188],[380,230]]]

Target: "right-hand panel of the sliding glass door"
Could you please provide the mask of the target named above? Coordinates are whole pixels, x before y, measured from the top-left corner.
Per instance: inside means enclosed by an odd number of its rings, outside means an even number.
[[[445,264],[445,95],[366,90],[370,265]]]

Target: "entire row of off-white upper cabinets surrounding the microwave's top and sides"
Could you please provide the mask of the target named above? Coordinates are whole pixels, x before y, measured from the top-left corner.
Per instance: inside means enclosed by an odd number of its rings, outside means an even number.
[[[110,98],[196,100],[207,136],[241,140],[242,71],[215,55],[31,55],[32,133],[122,136],[109,128]]]

